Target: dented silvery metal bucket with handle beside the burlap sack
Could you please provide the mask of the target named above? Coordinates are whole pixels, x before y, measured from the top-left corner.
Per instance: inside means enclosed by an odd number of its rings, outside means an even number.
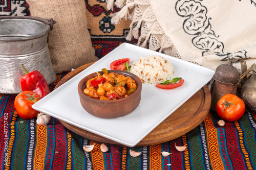
[[[48,84],[56,80],[48,39],[55,21],[31,16],[0,17],[0,93],[22,92],[20,78],[38,70]]]

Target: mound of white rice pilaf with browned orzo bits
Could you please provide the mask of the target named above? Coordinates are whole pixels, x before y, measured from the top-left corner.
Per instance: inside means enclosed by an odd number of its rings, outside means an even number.
[[[174,67],[161,56],[149,55],[133,62],[131,72],[144,84],[157,84],[173,77]]]

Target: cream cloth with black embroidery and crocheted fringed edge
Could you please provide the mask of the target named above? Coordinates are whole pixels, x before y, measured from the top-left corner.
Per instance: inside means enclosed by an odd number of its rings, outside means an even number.
[[[112,17],[131,19],[126,39],[211,69],[233,57],[247,68],[256,63],[256,4],[254,0],[107,0],[109,9],[122,8]],[[139,35],[140,29],[140,35]]]

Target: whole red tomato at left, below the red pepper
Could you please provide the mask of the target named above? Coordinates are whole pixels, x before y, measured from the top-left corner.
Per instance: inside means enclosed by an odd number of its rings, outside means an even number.
[[[32,105],[40,99],[40,95],[33,91],[23,91],[16,96],[14,107],[18,115],[23,119],[35,118],[39,111],[34,110]]]

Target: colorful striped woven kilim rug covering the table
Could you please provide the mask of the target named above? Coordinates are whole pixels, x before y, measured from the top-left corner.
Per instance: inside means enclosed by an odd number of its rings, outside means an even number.
[[[99,58],[120,43],[95,46]],[[54,89],[67,74],[57,75],[50,85]],[[36,119],[24,120],[14,110],[15,95],[0,94],[0,169],[256,169],[256,114],[246,110],[238,122],[217,125],[220,117],[210,112],[205,120],[185,135],[145,147],[100,144],[83,138],[51,117],[47,126]],[[95,143],[92,152],[83,145]],[[176,145],[185,145],[179,152]],[[131,157],[130,150],[142,152]],[[162,156],[161,152],[172,153]]]

